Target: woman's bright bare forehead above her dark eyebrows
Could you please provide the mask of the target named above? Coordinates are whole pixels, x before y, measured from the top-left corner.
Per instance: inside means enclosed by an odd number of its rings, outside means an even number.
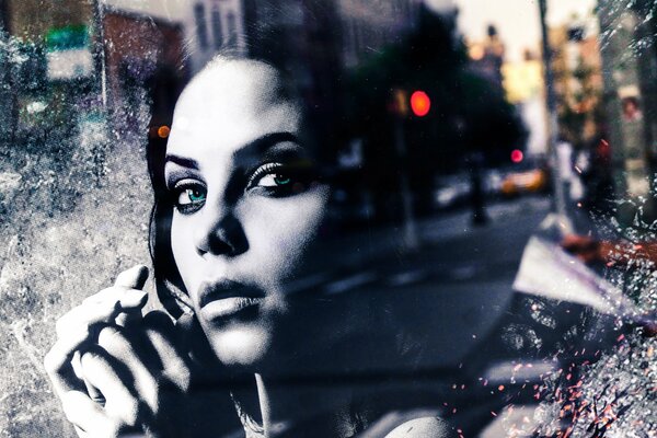
[[[176,104],[168,151],[232,153],[272,132],[297,135],[301,111],[287,97],[279,72],[257,61],[216,62],[199,73]]]

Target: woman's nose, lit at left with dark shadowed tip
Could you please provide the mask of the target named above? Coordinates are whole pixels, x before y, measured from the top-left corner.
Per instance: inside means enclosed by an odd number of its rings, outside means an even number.
[[[194,230],[196,252],[204,256],[237,256],[249,250],[249,241],[233,209],[227,205],[205,206],[203,219]]]

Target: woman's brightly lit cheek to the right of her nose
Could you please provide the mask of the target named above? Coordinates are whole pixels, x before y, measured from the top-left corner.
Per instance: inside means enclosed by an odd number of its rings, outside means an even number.
[[[303,265],[326,212],[328,189],[318,186],[288,198],[252,198],[243,205],[250,256],[264,281],[280,283]],[[253,261],[252,258],[252,261]]]

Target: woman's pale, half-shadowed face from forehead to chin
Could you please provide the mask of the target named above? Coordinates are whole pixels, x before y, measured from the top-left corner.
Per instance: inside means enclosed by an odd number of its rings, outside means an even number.
[[[182,94],[166,150],[171,246],[218,358],[257,366],[289,301],[285,285],[320,227],[327,187],[278,72],[230,60]]]

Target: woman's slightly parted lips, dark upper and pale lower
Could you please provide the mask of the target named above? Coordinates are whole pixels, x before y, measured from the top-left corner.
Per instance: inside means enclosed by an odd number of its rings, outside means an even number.
[[[208,319],[244,313],[261,303],[265,293],[253,286],[232,280],[205,281],[199,287],[200,311]]]

